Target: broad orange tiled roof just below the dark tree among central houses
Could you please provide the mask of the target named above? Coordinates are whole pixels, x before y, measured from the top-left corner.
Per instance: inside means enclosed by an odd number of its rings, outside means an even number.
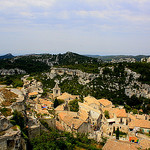
[[[77,113],[64,111],[58,114],[60,119],[69,127],[74,125],[74,129],[78,129],[85,121],[77,117]]]

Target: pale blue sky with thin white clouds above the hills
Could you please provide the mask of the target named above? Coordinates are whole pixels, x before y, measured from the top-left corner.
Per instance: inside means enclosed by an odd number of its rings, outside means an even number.
[[[150,55],[150,0],[0,0],[0,55]]]

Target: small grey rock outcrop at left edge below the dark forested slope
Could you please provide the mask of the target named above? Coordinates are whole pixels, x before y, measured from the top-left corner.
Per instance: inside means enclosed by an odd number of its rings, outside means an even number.
[[[14,69],[0,69],[0,75],[15,75],[15,74],[26,74],[26,71],[14,68]]]

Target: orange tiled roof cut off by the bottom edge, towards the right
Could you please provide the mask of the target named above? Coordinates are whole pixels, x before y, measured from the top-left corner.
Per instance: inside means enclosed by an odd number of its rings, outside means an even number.
[[[137,150],[139,145],[127,141],[108,140],[102,150]]]

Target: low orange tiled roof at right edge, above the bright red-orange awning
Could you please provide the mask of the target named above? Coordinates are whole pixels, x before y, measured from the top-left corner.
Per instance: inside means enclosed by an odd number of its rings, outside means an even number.
[[[129,123],[129,128],[134,128],[134,127],[140,127],[140,128],[148,128],[150,129],[150,121],[148,120],[139,120],[139,119],[135,119],[135,120],[131,120],[131,122]]]

